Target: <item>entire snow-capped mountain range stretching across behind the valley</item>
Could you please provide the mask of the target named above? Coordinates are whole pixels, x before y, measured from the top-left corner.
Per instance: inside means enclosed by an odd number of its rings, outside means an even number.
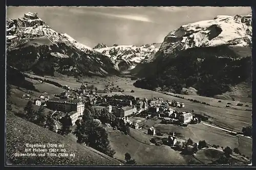
[[[37,13],[29,12],[22,18],[7,19],[7,64],[38,75],[59,72],[69,76],[109,76],[129,70],[130,74],[141,79],[135,85],[148,89],[177,88],[180,84],[198,87],[203,77],[221,82],[224,78],[216,77],[217,72],[221,75],[217,68],[238,67],[230,69],[235,72],[222,72],[222,75],[235,73],[241,82],[250,78],[245,75],[248,70],[244,67],[249,66],[247,57],[251,56],[251,19],[251,14],[220,15],[183,25],[168,33],[162,43],[141,46],[99,43],[91,48],[68,34],[54,31]],[[224,66],[219,64],[216,67],[220,61],[225,63]],[[215,69],[207,72],[211,67]],[[230,83],[236,84],[231,81],[225,86]],[[223,90],[217,91],[213,93]]]

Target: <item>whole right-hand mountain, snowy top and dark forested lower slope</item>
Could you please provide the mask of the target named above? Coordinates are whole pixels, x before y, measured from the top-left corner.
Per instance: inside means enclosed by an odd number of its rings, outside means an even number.
[[[251,80],[251,15],[217,16],[170,32],[151,63],[137,65],[135,85],[213,96]],[[210,83],[211,82],[211,83]]]

